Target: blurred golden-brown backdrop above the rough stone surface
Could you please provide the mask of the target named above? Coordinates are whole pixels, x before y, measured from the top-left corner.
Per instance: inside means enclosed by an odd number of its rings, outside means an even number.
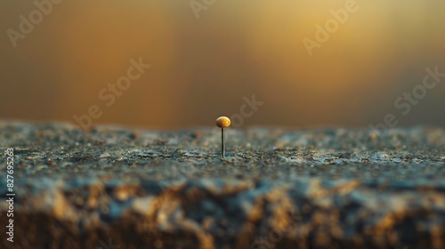
[[[76,124],[95,105],[93,124],[182,129],[239,114],[255,94],[263,105],[243,127],[368,126],[388,113],[445,125],[445,77],[407,115],[394,106],[426,67],[445,72],[444,1],[357,0],[312,56],[303,38],[317,41],[348,1],[58,1],[0,2],[1,119]],[[140,58],[151,68],[103,100]]]

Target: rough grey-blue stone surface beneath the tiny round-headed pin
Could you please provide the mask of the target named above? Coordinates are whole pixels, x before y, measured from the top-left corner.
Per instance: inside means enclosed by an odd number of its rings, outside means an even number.
[[[1,248],[445,248],[445,130],[0,122]],[[14,242],[5,149],[14,149]],[[3,153],[3,154],[2,154]]]

